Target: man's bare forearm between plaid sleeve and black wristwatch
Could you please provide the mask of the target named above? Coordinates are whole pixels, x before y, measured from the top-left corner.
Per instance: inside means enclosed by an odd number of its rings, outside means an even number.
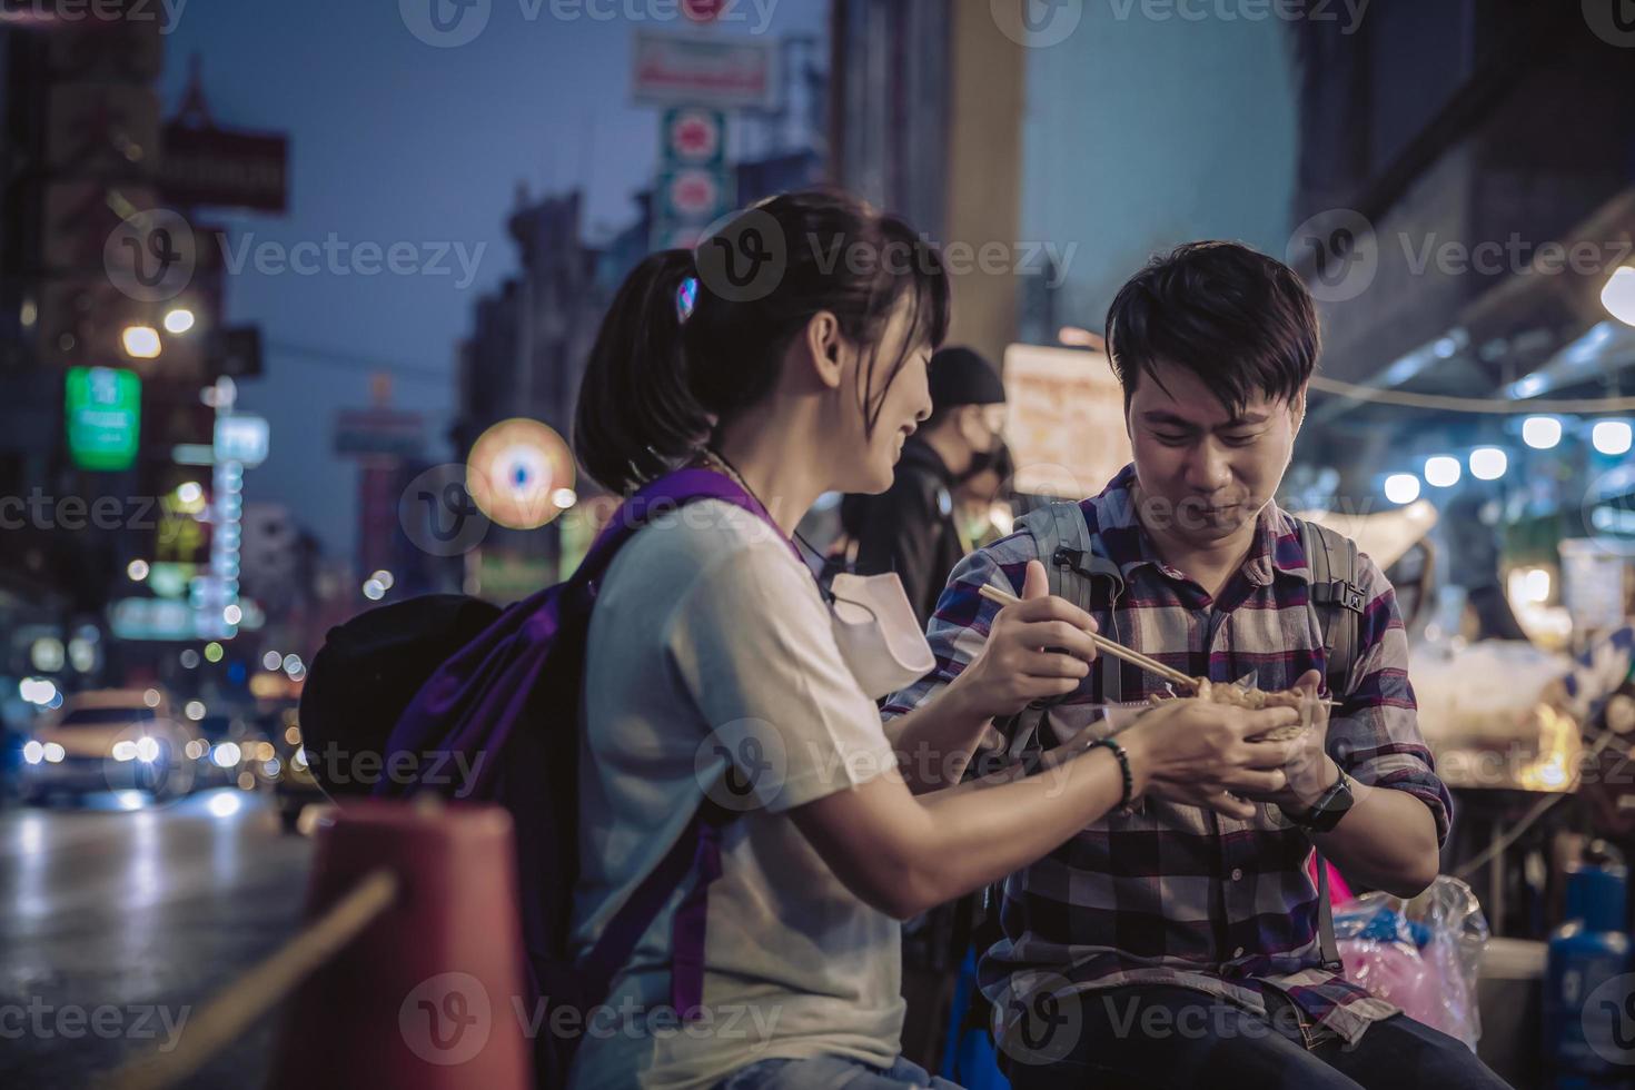
[[[1436,817],[1408,791],[1352,780],[1352,807],[1333,832],[1311,842],[1347,878],[1398,897],[1414,897],[1436,881],[1440,858]]]

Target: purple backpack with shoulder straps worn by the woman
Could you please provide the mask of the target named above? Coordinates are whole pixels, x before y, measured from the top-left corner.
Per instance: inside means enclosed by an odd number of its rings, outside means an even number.
[[[695,500],[723,500],[772,523],[765,508],[723,474],[679,469],[652,480],[625,500],[567,582],[513,603],[450,657],[409,701],[386,744],[387,766],[396,753],[415,755],[414,766],[420,770],[446,770],[451,757],[464,758],[458,766],[474,768],[476,775],[474,783],[455,784],[461,797],[500,802],[510,811],[528,959],[525,979],[533,998],[546,1002],[541,1026],[553,1025],[554,1008],[589,1013],[607,998],[643,933],[695,871],[698,882],[672,927],[670,1000],[682,1018],[695,1016],[703,1002],[705,899],[710,882],[721,874],[721,829],[734,817],[708,799],[589,954],[576,963],[567,949],[579,874],[579,708],[590,610],[618,549],[647,523]],[[428,753],[438,760],[419,760]],[[474,763],[477,753],[481,765]],[[448,784],[425,780],[404,784],[383,778],[374,793],[387,797],[450,793]],[[540,1034],[535,1043],[540,1085],[566,1085],[576,1044],[574,1038]]]

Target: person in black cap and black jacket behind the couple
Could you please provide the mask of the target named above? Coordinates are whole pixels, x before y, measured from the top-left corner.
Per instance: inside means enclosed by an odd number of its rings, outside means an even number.
[[[973,350],[935,353],[929,379],[932,413],[904,443],[891,489],[849,495],[840,515],[857,546],[857,574],[896,572],[922,626],[966,552],[955,489],[1001,444],[1006,422],[999,373]]]

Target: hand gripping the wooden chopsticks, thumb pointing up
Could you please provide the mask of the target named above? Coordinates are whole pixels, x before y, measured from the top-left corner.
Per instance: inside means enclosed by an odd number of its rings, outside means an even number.
[[[1014,716],[1035,699],[1066,696],[1095,662],[1095,619],[1051,596],[1045,565],[1028,561],[1022,598],[994,616],[981,654],[950,690],[994,719]]]

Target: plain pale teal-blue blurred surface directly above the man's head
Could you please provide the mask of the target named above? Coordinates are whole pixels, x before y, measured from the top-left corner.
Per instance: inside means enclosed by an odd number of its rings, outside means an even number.
[[[1033,322],[1020,340],[1055,343],[1061,325],[1100,333],[1118,288],[1184,242],[1282,257],[1298,129],[1280,20],[1087,3],[1071,31],[1035,26],[1064,36],[1024,51],[1017,260],[1038,270],[1032,294],[1055,304],[1055,325]]]

